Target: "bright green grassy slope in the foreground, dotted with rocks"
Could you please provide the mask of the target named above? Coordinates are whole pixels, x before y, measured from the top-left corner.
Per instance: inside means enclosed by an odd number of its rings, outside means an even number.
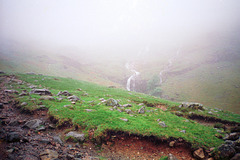
[[[59,91],[68,90],[70,93],[79,96],[81,101],[74,105],[74,109],[68,109],[63,107],[64,105],[69,105],[67,99],[60,101],[47,101],[39,100],[39,95],[30,95],[23,98],[17,98],[20,102],[27,102],[28,105],[25,106],[28,109],[36,109],[39,104],[45,105],[49,109],[49,114],[53,115],[60,121],[70,120],[73,124],[81,126],[83,132],[88,134],[90,129],[94,129],[94,138],[105,136],[107,131],[124,131],[130,134],[137,134],[142,136],[156,136],[159,138],[183,138],[187,142],[193,144],[193,146],[202,147],[213,147],[218,146],[223,143],[215,137],[218,134],[212,127],[207,127],[190,120],[186,121],[185,118],[178,117],[172,114],[170,111],[162,111],[155,107],[146,107],[145,114],[138,114],[137,110],[141,108],[139,103],[147,102],[149,104],[162,104],[168,106],[170,109],[178,106],[176,102],[166,101],[153,96],[128,92],[126,90],[117,88],[107,88],[104,86],[96,85],[93,83],[88,83],[84,81],[60,78],[60,77],[50,77],[41,75],[25,75],[18,74],[19,79],[38,86],[38,88],[47,88],[56,98],[56,94]],[[27,86],[12,83],[11,86],[18,91],[31,89]],[[29,84],[29,85],[30,85]],[[77,89],[81,88],[82,91]],[[88,96],[82,96],[84,92],[88,93]],[[33,100],[36,99],[36,100]],[[134,113],[133,116],[125,113],[118,112],[117,110],[111,111],[110,106],[100,103],[100,98],[109,99],[114,98],[119,100],[120,104],[130,103],[132,107],[130,108]],[[87,112],[85,109],[92,109],[92,112]],[[236,119],[239,118],[239,115]],[[122,121],[120,118],[127,118],[129,121]],[[224,118],[224,117],[223,117]],[[164,121],[167,128],[162,128],[158,125],[157,119]],[[180,132],[181,130],[186,130],[186,133]],[[211,138],[209,138],[211,137]]]

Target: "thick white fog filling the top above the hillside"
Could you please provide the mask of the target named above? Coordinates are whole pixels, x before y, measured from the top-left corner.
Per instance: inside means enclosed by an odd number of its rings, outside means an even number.
[[[134,57],[209,33],[232,34],[239,15],[238,0],[0,0],[0,40]]]

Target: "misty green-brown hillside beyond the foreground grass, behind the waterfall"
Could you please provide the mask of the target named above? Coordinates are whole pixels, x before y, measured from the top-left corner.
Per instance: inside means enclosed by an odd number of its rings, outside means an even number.
[[[106,86],[126,88],[133,62],[140,73],[132,90],[181,102],[193,101],[239,113],[240,47],[238,39],[202,39],[179,48],[149,52],[131,59],[90,56],[67,49],[46,51],[11,43],[0,49],[0,69],[71,77]],[[2,45],[4,46],[4,45]],[[178,55],[177,55],[177,52]],[[171,65],[169,66],[169,60]],[[167,67],[167,69],[166,69]],[[162,73],[162,84],[159,74]]]

